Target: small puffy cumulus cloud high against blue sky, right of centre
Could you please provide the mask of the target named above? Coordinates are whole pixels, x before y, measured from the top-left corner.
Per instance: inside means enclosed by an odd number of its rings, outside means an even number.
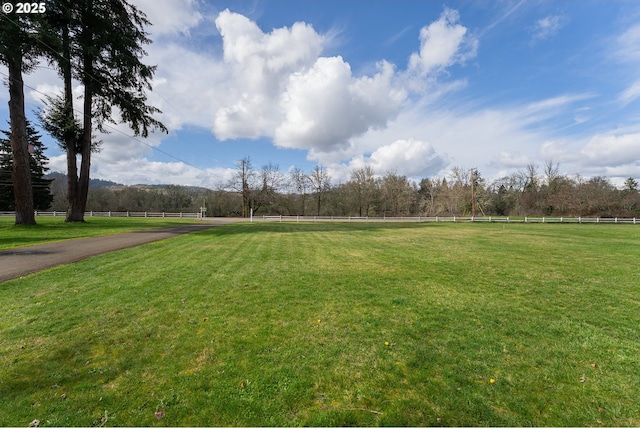
[[[476,55],[478,40],[467,34],[459,19],[456,10],[445,8],[437,21],[420,30],[420,51],[409,58],[409,71],[433,74]]]

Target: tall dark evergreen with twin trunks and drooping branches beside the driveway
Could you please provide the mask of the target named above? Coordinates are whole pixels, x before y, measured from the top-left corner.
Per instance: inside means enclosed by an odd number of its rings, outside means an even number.
[[[167,131],[153,118],[159,110],[147,104],[145,94],[155,72],[140,61],[146,55],[142,46],[151,43],[144,31],[150,22],[125,0],[58,0],[50,4],[45,19],[42,37],[53,48],[47,54],[64,82],[59,123],[69,125],[60,129],[67,152],[66,221],[84,221],[94,127],[104,132],[105,123],[113,123],[116,107],[135,135],[146,137],[153,128]],[[72,125],[72,79],[84,87],[80,133]]]

